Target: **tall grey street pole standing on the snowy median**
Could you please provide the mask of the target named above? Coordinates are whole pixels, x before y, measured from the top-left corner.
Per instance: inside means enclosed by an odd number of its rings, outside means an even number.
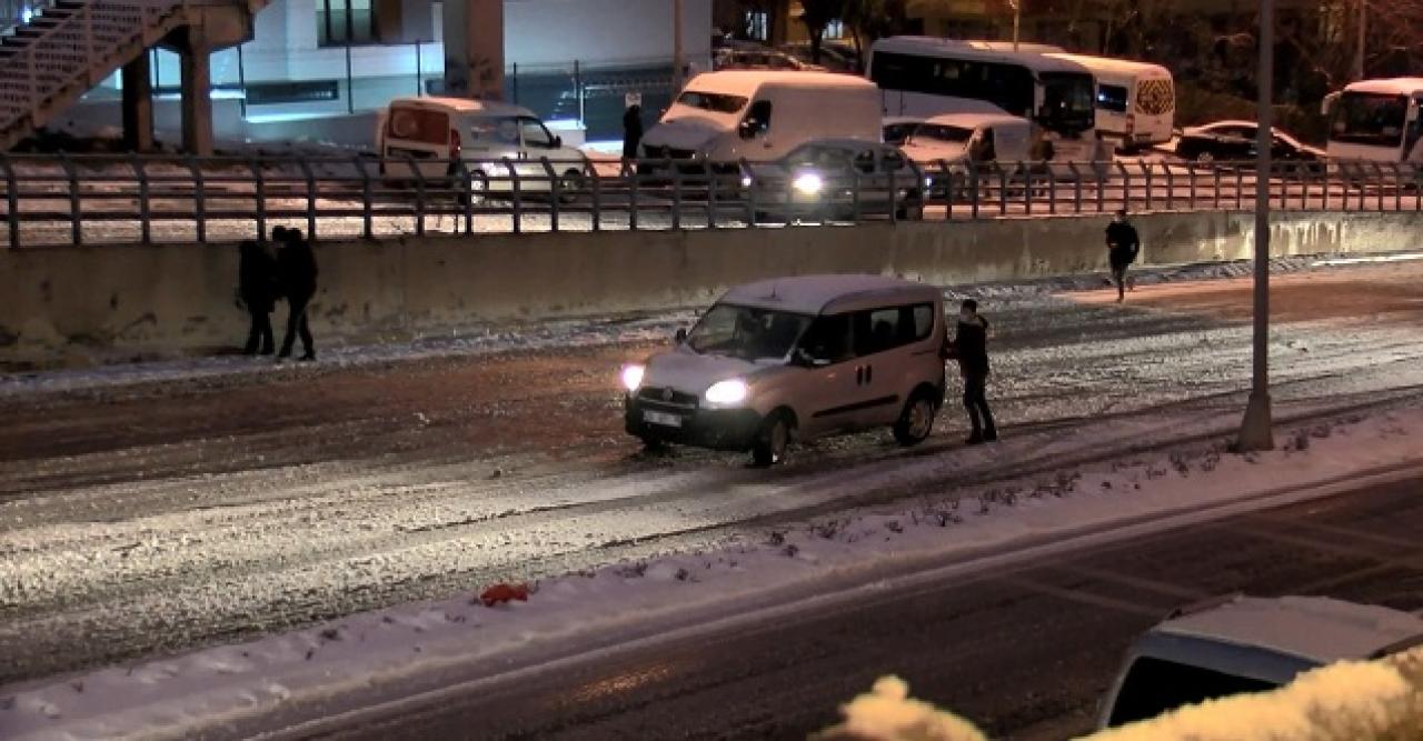
[[[1275,145],[1271,98],[1275,87],[1275,7],[1259,0],[1259,121],[1255,138],[1255,337],[1249,404],[1241,422],[1238,448],[1275,447],[1269,412],[1269,175]]]

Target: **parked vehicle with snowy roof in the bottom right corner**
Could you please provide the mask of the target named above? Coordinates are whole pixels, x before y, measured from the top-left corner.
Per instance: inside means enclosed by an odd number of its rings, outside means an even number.
[[[1229,596],[1177,610],[1128,650],[1100,728],[1239,693],[1335,661],[1423,644],[1423,617],[1326,597]]]

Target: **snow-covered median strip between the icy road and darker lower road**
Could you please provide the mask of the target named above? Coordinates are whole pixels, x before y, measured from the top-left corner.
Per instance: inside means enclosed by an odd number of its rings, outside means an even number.
[[[494,674],[518,666],[521,656],[573,653],[608,634],[635,637],[639,626],[764,609],[787,595],[830,592],[906,565],[1009,552],[1241,501],[1265,506],[1272,502],[1266,495],[1416,461],[1419,432],[1423,410],[1410,408],[1291,431],[1269,454],[1238,457],[1207,447],[943,492],[909,508],[838,515],[716,552],[551,579],[528,603],[485,607],[472,597],[487,585],[470,585],[470,595],[450,600],[0,691],[0,735],[184,738],[222,735],[269,714],[290,723],[306,704],[336,713],[346,697],[369,701],[438,687],[430,677],[448,678],[461,667]],[[1292,495],[1321,494],[1326,491]]]

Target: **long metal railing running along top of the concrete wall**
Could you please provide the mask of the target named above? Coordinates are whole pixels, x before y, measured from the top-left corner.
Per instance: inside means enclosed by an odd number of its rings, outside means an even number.
[[[746,162],[384,161],[0,155],[6,243],[746,229],[1131,212],[1251,210],[1249,164],[1114,162],[825,174],[820,192]],[[756,174],[747,178],[747,174]],[[1279,210],[1420,210],[1423,168],[1281,162]]]

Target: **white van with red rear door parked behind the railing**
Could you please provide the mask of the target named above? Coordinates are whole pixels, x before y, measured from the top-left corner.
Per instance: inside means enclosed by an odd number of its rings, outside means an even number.
[[[467,98],[396,98],[377,118],[376,148],[387,179],[444,179],[457,161],[475,192],[559,191],[575,193],[589,176],[588,156],[565,146],[534,111]],[[544,162],[548,162],[545,169]],[[552,171],[552,176],[551,176]]]

